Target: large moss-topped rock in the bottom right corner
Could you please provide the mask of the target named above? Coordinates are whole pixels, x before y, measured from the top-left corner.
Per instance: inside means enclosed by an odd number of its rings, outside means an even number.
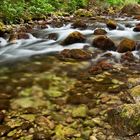
[[[108,121],[117,135],[130,136],[140,132],[140,103],[124,104],[108,111]]]

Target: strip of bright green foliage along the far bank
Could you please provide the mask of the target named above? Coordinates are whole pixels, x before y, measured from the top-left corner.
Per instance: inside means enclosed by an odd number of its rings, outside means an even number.
[[[21,18],[39,18],[53,11],[74,12],[79,8],[86,8],[93,1],[103,7],[140,3],[140,0],[0,0],[0,16],[5,22],[17,22]]]

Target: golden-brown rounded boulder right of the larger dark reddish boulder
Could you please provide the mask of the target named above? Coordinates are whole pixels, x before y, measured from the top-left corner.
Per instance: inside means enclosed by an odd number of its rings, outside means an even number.
[[[134,40],[125,38],[118,45],[117,51],[119,53],[124,53],[127,51],[133,51],[136,48],[136,42]]]

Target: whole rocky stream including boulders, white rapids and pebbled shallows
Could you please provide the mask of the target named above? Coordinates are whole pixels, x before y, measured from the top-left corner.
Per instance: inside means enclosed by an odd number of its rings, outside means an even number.
[[[105,18],[1,38],[2,140],[140,139],[140,21]]]

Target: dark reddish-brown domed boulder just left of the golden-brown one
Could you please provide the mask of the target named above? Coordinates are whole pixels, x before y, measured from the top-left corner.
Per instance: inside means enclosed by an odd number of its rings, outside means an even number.
[[[96,37],[92,45],[101,50],[116,50],[114,42],[105,35]]]

